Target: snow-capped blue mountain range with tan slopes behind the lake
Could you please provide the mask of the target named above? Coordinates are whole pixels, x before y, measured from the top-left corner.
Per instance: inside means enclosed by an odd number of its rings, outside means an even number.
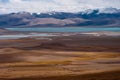
[[[6,27],[120,27],[120,9],[88,9],[77,13],[19,12],[0,15],[0,28]]]

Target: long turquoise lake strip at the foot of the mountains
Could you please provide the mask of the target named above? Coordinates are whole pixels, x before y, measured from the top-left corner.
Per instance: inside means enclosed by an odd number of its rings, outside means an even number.
[[[37,32],[95,32],[95,31],[120,32],[120,28],[41,27],[41,28],[6,28],[6,29],[11,31],[37,31]]]

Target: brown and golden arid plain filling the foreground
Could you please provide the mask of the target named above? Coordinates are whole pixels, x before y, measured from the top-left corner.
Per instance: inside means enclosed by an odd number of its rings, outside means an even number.
[[[0,40],[0,80],[120,80],[119,75],[120,36]]]

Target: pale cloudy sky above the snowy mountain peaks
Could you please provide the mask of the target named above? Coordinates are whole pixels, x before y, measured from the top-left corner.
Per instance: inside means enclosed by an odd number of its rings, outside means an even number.
[[[86,9],[113,7],[120,9],[120,0],[0,0],[0,14],[12,12],[79,12]]]

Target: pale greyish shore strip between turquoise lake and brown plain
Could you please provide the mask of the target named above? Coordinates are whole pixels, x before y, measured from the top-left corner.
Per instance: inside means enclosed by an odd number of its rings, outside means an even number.
[[[88,36],[88,37],[120,37],[120,32],[100,31],[100,32],[14,32],[12,34],[0,34],[0,39],[20,39],[34,37],[67,37],[67,36]]]

